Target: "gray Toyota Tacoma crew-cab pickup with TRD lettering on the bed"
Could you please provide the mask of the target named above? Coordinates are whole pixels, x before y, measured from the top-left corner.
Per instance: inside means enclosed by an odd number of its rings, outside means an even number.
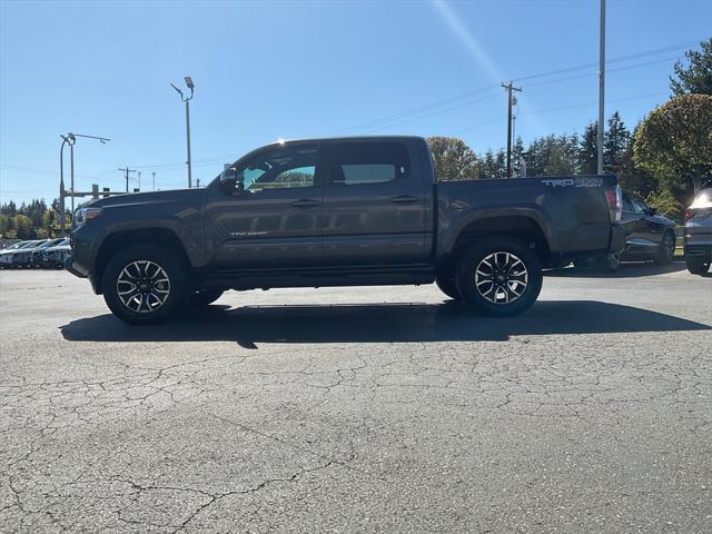
[[[89,202],[66,267],[134,324],[227,289],[432,283],[513,316],[542,268],[623,249],[613,176],[443,178],[417,137],[269,145],[204,189]]]

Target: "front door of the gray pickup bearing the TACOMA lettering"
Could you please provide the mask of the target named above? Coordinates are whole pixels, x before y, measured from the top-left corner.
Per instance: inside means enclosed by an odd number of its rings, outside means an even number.
[[[318,265],[323,188],[318,146],[270,147],[212,187],[207,250],[218,270]]]

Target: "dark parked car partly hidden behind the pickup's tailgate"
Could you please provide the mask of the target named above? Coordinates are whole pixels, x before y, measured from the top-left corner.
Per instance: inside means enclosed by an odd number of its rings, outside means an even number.
[[[576,261],[577,267],[593,267],[614,273],[622,261],[655,261],[670,264],[675,257],[675,222],[657,214],[645,201],[623,191],[622,224],[625,248],[621,254],[606,254],[594,261]]]

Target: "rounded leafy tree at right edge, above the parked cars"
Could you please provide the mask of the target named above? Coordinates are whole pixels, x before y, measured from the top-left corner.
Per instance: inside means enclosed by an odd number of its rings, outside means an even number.
[[[637,167],[673,192],[696,191],[712,177],[712,96],[672,98],[645,118],[634,142]]]

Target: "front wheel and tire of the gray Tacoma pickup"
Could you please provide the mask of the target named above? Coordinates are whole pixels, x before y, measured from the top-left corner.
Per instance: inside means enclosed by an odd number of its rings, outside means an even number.
[[[113,315],[126,323],[164,323],[185,306],[187,270],[184,260],[168,248],[154,244],[127,247],[109,260],[103,271],[103,299]],[[140,291],[141,285],[145,293]],[[125,295],[127,291],[131,293]]]

